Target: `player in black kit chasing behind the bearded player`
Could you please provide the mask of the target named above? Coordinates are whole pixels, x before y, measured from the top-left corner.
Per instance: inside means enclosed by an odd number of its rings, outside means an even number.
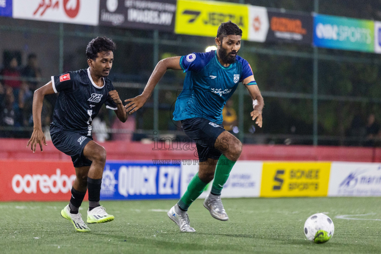
[[[115,110],[123,123],[127,120],[117,91],[107,76],[114,60],[115,43],[106,37],[97,37],[87,45],[88,69],[66,72],[52,76],[51,81],[37,89],[33,97],[34,129],[28,145],[33,152],[37,144],[46,145],[41,128],[41,110],[45,95],[59,93],[50,125],[50,135],[54,146],[71,156],[77,178],[71,189],[70,203],[61,211],[61,216],[70,220],[75,229],[90,231],[83,222],[79,207],[89,194],[87,223],[102,223],[114,220],[99,204],[102,174],[106,163],[106,150],[93,141],[91,121],[103,104]]]

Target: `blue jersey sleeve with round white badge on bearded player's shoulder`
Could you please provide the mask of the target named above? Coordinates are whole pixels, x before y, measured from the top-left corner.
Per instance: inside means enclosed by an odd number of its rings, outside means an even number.
[[[184,72],[188,70],[199,72],[210,61],[214,51],[207,53],[191,53],[180,58],[180,66]]]

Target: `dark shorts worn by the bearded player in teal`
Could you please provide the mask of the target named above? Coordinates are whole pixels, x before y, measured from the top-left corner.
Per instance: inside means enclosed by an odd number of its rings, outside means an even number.
[[[181,120],[181,127],[184,133],[196,141],[199,161],[206,161],[208,158],[218,160],[221,152],[215,149],[214,145],[219,134],[225,131],[222,124],[202,118],[188,118]]]

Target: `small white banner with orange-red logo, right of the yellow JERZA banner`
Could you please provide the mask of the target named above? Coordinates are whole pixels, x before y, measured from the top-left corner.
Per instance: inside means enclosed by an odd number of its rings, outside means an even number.
[[[264,42],[269,30],[269,18],[266,7],[249,5],[248,40]]]

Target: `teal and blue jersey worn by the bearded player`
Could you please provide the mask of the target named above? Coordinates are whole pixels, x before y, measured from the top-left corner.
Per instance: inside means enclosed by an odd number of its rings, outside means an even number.
[[[173,120],[202,117],[222,123],[222,109],[238,83],[253,75],[249,63],[235,56],[236,61],[224,67],[217,53],[192,53],[180,58],[186,72],[184,87],[176,100]]]

